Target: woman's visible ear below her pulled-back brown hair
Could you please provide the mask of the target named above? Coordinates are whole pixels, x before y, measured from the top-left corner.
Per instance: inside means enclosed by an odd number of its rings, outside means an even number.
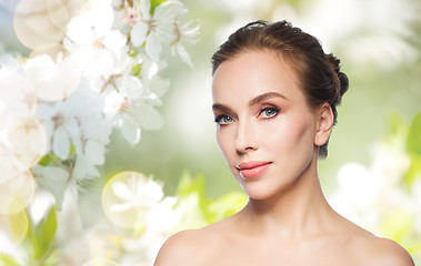
[[[319,108],[319,112],[317,113],[315,119],[317,129],[314,135],[314,144],[322,146],[328,142],[333,126],[333,111],[329,103],[323,103]]]

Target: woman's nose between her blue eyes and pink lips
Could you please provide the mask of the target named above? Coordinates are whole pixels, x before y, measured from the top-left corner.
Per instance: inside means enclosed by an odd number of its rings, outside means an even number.
[[[238,123],[235,135],[235,150],[238,154],[244,154],[259,149],[254,126],[252,122]]]

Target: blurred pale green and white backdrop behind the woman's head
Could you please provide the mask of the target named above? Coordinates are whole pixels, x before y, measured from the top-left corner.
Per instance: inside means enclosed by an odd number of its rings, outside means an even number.
[[[0,1],[0,52],[28,54],[12,31],[18,1]],[[421,111],[421,3],[419,0],[184,0],[187,19],[198,19],[200,41],[188,47],[194,66],[172,58],[164,70],[171,86],[160,111],[166,125],[143,131],[130,146],[112,134],[103,168],[110,177],[133,170],[153,175],[167,194],[176,193],[183,171],[201,173],[206,193],[218,197],[240,191],[214,140],[211,113],[210,58],[229,33],[257,20],[290,20],[314,34],[325,52],[341,59],[350,90],[339,108],[339,123],[320,162],[327,194],[335,186],[338,168],[347,162],[369,164],[372,144],[390,133],[390,117],[408,123]],[[171,58],[170,51],[166,51]]]

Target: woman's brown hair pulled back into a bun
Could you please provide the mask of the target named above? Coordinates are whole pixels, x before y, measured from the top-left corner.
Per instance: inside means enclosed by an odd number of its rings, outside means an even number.
[[[318,39],[287,21],[258,20],[237,30],[213,54],[212,75],[223,61],[241,52],[262,49],[278,52],[291,63],[309,105],[314,109],[329,103],[335,124],[337,105],[349,85],[347,75],[340,72],[340,60],[332,53],[325,54]],[[328,143],[320,146],[319,155],[328,155]]]

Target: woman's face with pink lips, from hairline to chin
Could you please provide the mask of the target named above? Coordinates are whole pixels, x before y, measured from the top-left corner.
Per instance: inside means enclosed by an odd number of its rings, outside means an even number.
[[[212,91],[218,144],[251,198],[282,193],[311,172],[318,123],[289,63],[274,52],[239,53],[219,65]]]

